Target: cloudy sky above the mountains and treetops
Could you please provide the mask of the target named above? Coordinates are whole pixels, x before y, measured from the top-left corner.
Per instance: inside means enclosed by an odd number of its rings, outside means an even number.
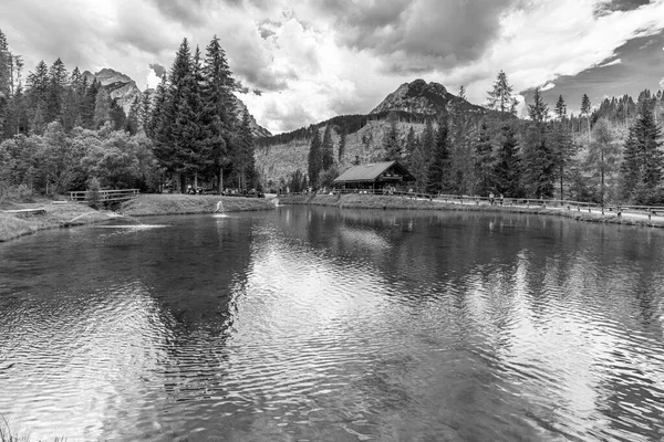
[[[214,35],[240,94],[273,134],[366,114],[424,78],[486,103],[505,71],[521,102],[664,88],[664,0],[1,0],[0,30],[25,71],[111,67],[141,90],[183,39]]]

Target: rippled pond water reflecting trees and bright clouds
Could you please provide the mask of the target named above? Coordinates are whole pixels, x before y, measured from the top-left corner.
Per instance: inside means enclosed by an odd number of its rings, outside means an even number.
[[[664,439],[664,231],[308,207],[141,222],[0,244],[14,432]]]

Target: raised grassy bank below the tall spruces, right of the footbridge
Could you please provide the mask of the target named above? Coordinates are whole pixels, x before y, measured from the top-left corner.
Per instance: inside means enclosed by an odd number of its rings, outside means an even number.
[[[273,210],[274,204],[263,198],[219,197],[216,194],[139,194],[123,203],[122,214],[147,217],[158,214],[211,213],[221,201],[224,212]]]

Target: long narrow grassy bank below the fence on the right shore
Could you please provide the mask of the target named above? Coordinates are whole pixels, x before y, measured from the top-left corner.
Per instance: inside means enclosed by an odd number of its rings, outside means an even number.
[[[511,213],[530,213],[530,214],[547,214],[556,217],[564,217],[579,221],[625,224],[625,225],[644,225],[664,228],[664,218],[653,217],[649,220],[647,217],[637,217],[623,214],[618,217],[615,213],[605,212],[588,212],[588,210],[577,211],[566,208],[542,208],[542,207],[500,207],[480,204],[460,204],[443,201],[428,201],[422,199],[402,198],[402,197],[383,197],[372,194],[309,194],[309,196],[281,196],[279,201],[282,204],[315,204],[331,206],[339,208],[353,209],[384,209],[384,210],[464,210],[464,211],[492,211],[492,212],[511,212]]]

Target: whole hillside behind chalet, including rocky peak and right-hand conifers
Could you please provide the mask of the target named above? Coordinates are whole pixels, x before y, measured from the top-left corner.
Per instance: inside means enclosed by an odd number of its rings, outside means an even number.
[[[583,96],[573,115],[562,96],[550,109],[536,90],[527,118],[516,117],[504,72],[486,108],[459,95],[404,84],[370,115],[259,139],[257,167],[269,185],[300,190],[330,186],[354,164],[398,159],[419,191],[664,203],[661,91],[595,106]]]

